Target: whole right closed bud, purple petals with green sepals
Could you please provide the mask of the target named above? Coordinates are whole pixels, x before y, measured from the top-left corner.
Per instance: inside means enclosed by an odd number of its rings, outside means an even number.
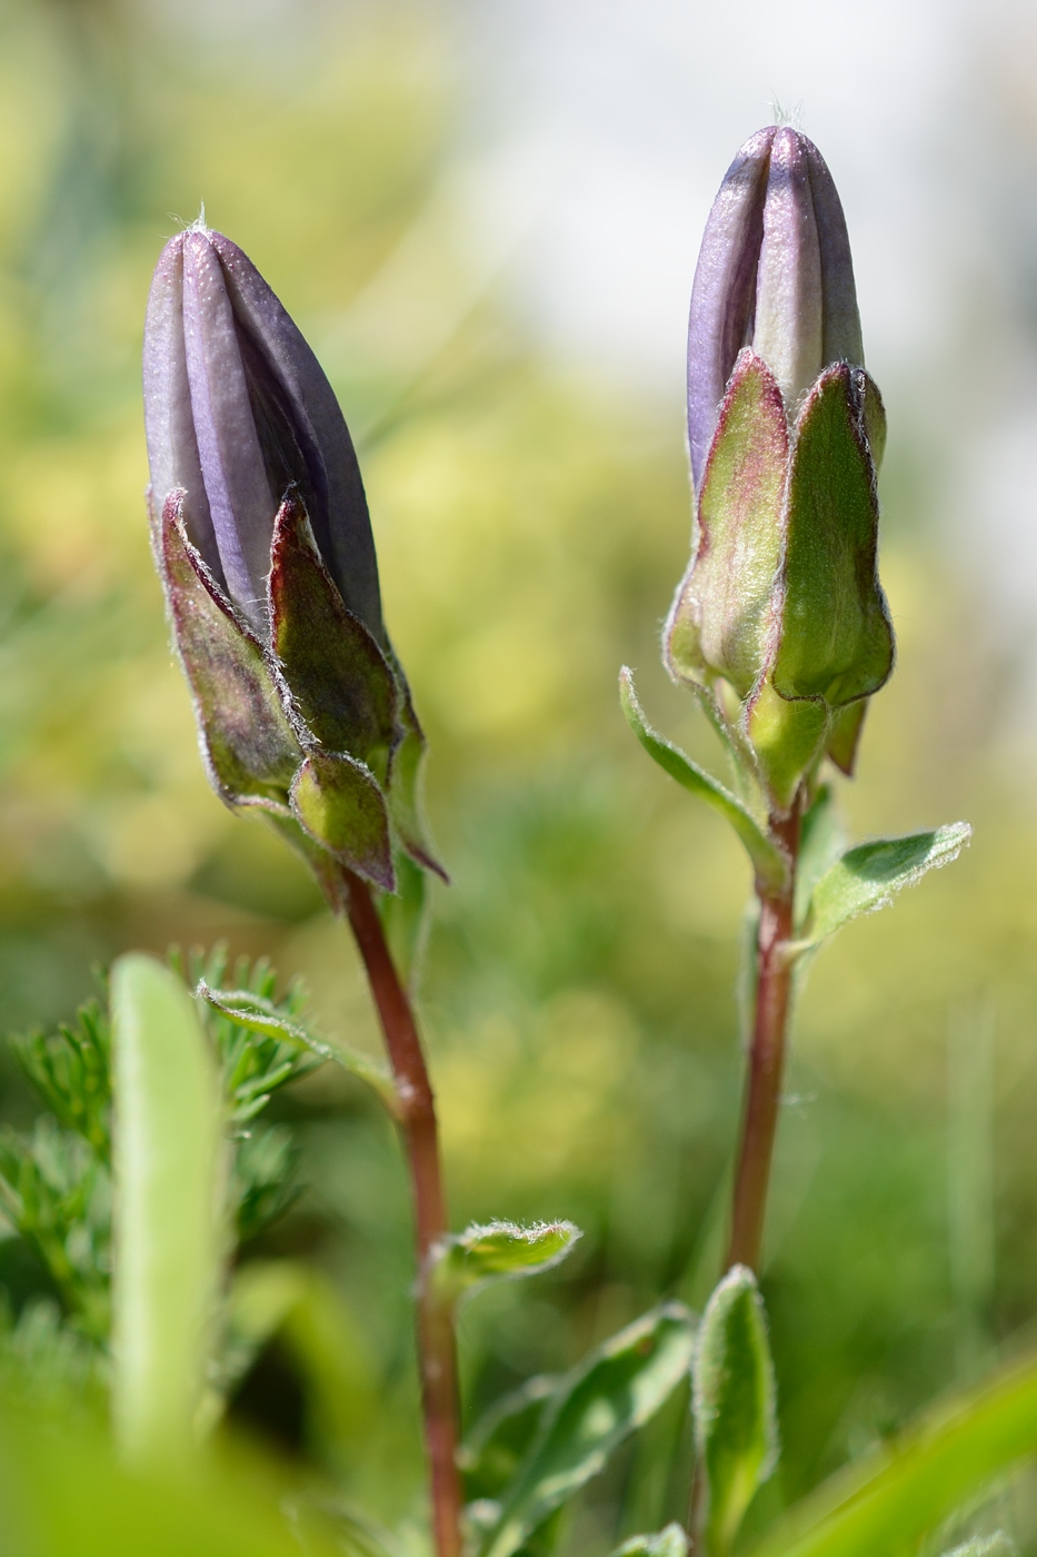
[[[877,575],[886,420],[861,366],[845,220],[817,148],[761,129],[710,212],[688,330],[693,556],[663,634],[768,805],[828,754],[853,768],[892,670]]]

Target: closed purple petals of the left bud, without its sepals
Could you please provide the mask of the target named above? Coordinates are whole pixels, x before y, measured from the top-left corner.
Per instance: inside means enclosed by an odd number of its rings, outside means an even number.
[[[332,386],[263,277],[223,234],[167,243],[145,322],[153,512],[182,490],[187,532],[268,635],[274,518],[290,487],[346,606],[385,643],[353,445]]]

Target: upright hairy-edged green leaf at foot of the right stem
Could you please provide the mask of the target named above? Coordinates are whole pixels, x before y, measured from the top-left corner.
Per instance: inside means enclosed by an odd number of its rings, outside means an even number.
[[[726,1557],[777,1464],[774,1364],[757,1280],[733,1266],[715,1289],[694,1348],[694,1440],[705,1476],[705,1549]]]

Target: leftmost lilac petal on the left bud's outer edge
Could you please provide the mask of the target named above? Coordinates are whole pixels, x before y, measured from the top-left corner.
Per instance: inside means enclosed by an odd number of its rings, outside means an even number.
[[[184,234],[159,257],[145,319],[143,397],[153,512],[184,492],[181,515],[190,540],[223,584],[224,575],[202,481],[184,353]]]

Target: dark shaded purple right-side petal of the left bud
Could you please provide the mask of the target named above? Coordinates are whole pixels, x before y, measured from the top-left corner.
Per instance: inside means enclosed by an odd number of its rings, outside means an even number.
[[[252,347],[248,369],[254,392],[274,411],[280,408],[277,420],[290,428],[305,462],[305,480],[302,472],[296,480],[321,554],[346,606],[385,643],[367,500],[335,391],[252,262],[223,234],[210,234],[210,241],[220,254],[241,344]]]

